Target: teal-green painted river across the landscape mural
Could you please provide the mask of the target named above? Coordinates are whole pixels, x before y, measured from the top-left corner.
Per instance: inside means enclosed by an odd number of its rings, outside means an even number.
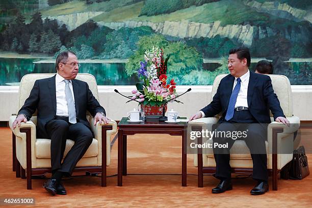
[[[204,70],[213,71],[220,66],[220,59],[204,60]],[[259,58],[252,59],[253,69]],[[80,73],[91,73],[98,85],[135,85],[139,81],[136,74],[129,77],[125,71],[126,60],[81,60]],[[290,59],[287,62],[294,73],[300,66],[311,64],[311,59]],[[0,85],[19,85],[21,77],[28,73],[55,73],[55,62],[51,58],[0,58]],[[292,83],[292,79],[290,79]],[[183,85],[183,83],[177,83]],[[311,83],[312,84],[312,83]]]

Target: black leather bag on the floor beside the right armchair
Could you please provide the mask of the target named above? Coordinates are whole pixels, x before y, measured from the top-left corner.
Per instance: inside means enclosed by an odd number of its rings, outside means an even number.
[[[289,178],[302,180],[310,174],[307,157],[305,155],[304,146],[294,150],[293,160],[289,170]]]

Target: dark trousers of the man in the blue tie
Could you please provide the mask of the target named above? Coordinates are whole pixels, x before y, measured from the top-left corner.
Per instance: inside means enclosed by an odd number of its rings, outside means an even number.
[[[216,132],[233,132],[233,131],[247,131],[244,140],[248,146],[253,162],[253,179],[268,180],[267,170],[267,154],[266,154],[266,138],[267,128],[264,124],[258,124],[249,111],[235,111],[233,118],[229,121],[219,121],[218,124],[213,126]],[[214,157],[216,161],[216,174],[215,177],[219,179],[231,178],[230,161],[230,148],[236,140],[228,137],[213,138],[213,142],[218,144],[226,144],[227,148],[214,148]],[[246,152],[235,152],[246,153]]]

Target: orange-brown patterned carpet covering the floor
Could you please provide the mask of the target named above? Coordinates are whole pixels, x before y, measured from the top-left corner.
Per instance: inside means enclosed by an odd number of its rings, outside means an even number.
[[[204,177],[204,188],[197,188],[197,169],[193,155],[188,155],[188,186],[181,187],[181,139],[167,135],[135,135],[128,138],[128,173],[163,175],[127,175],[123,187],[117,176],[108,177],[108,187],[100,187],[100,177],[80,173],[64,178],[67,195],[50,196],[43,188],[45,179],[33,179],[33,190],[26,180],[12,171],[10,129],[0,129],[0,198],[35,198],[39,207],[311,207],[312,175],[303,180],[278,180],[278,191],[251,196],[255,185],[251,178],[232,175],[233,190],[212,194],[218,184],[212,176]],[[113,139],[113,138],[112,138]],[[308,155],[312,164],[312,154]],[[117,173],[117,142],[112,148],[108,175]],[[49,175],[46,175],[49,177]],[[269,183],[271,183],[271,178]],[[0,205],[1,206],[1,205]],[[13,206],[11,206],[13,207]]]

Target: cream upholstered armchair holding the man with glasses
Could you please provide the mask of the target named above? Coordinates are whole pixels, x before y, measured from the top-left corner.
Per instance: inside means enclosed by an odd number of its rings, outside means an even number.
[[[36,80],[54,76],[54,74],[27,74],[22,77],[19,93],[17,111],[23,106],[28,98]],[[76,77],[88,83],[94,97],[98,99],[97,85],[93,75],[80,73]],[[17,112],[16,111],[16,112]],[[50,172],[50,140],[36,137],[37,112],[30,121],[21,123],[20,127],[12,128],[16,115],[10,117],[10,128],[12,130],[13,142],[13,170],[16,170],[16,177],[27,178],[27,189],[32,189],[32,175],[44,175]],[[93,125],[94,119],[87,112],[87,120],[94,133],[93,141],[83,158],[77,163],[74,171],[102,173],[101,186],[106,186],[106,165],[110,165],[111,140],[110,136],[117,132],[117,123],[110,121],[109,124]],[[72,140],[67,140],[64,157],[73,146]],[[102,165],[106,164],[106,165]]]

